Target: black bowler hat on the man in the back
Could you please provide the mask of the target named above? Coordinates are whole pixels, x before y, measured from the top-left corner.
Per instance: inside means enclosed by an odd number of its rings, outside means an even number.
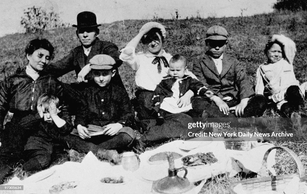
[[[77,28],[91,28],[101,26],[101,24],[97,24],[95,13],[84,11],[77,15],[77,25],[72,26]]]

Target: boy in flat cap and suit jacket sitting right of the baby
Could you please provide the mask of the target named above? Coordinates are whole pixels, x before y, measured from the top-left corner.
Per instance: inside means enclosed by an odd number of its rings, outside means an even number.
[[[212,26],[206,36],[208,50],[201,61],[193,65],[192,72],[217,96],[207,101],[195,97],[193,109],[207,110],[203,117],[262,116],[266,110],[264,96],[255,95],[243,64],[224,53],[228,43],[227,30],[221,26]]]

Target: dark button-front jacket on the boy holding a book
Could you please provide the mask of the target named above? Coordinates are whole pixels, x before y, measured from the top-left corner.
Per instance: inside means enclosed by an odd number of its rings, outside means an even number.
[[[111,83],[105,87],[99,87],[93,82],[90,85],[83,91],[75,125],[87,127],[88,124],[105,126],[120,123],[131,127],[134,110],[126,90]]]

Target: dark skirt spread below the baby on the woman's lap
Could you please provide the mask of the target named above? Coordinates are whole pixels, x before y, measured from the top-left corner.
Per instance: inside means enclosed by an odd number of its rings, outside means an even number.
[[[164,110],[160,110],[164,111]],[[141,137],[141,141],[149,146],[153,143],[161,143],[172,138],[186,138],[190,129],[188,123],[193,122],[192,117],[185,113],[169,113],[165,111],[164,123],[157,125],[156,120],[142,120],[146,131]]]

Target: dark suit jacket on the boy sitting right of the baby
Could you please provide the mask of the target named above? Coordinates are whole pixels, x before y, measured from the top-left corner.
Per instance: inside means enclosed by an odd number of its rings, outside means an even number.
[[[192,72],[220,98],[230,96],[241,100],[255,95],[245,68],[238,60],[224,54],[222,64],[223,69],[219,74],[212,58],[206,52],[203,59],[193,65]]]

